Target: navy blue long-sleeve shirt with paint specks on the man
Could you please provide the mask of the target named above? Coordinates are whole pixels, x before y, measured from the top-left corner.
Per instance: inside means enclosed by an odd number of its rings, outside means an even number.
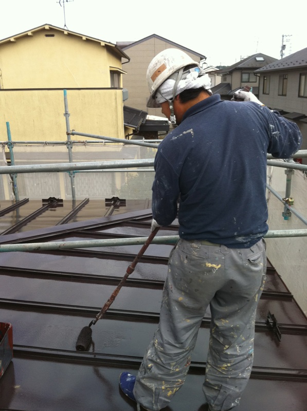
[[[153,218],[179,236],[247,248],[267,232],[266,154],[290,158],[298,126],[252,102],[209,97],[189,108],[155,157]]]

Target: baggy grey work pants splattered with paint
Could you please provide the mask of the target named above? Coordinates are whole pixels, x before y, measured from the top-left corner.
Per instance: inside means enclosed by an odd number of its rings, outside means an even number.
[[[213,410],[239,404],[252,367],[255,315],[266,272],[264,240],[247,249],[180,239],[169,258],[160,321],[137,374],[139,404],[158,411],[184,384],[207,306],[203,391]]]

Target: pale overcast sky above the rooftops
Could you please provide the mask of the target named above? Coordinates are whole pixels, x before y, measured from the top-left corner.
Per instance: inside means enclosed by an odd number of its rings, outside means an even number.
[[[306,0],[0,0],[0,39],[43,24],[111,43],[157,34],[207,57],[209,65],[231,65],[261,52],[280,59],[307,47]],[[65,6],[65,21],[64,7]],[[129,53],[128,53],[129,55]]]

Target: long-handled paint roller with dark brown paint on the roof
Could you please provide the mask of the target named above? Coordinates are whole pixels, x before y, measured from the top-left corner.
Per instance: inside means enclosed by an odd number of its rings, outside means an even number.
[[[151,244],[151,241],[153,240],[154,236],[157,234],[159,230],[159,227],[157,227],[154,231],[151,232],[150,236],[147,238],[145,244],[142,246],[140,249],[139,253],[137,256],[134,258],[130,266],[127,268],[127,271],[125,275],[122,277],[120,283],[116,287],[116,289],[113,291],[111,294],[109,300],[104,304],[104,306],[101,308],[100,312],[96,315],[96,318],[89,323],[88,326],[83,327],[82,330],[80,331],[80,334],[77,339],[76,343],[76,350],[77,351],[87,351],[89,346],[92,343],[92,325],[95,325],[98,320],[101,319],[103,314],[106,312],[107,309],[111,306],[111,304],[114,302],[117,294],[119,293],[119,290],[121,289],[122,285],[126,281],[126,279],[129,277],[130,274],[133,273],[135,266],[137,265],[138,261],[142,257],[142,255],[145,253],[147,250],[148,246]]]

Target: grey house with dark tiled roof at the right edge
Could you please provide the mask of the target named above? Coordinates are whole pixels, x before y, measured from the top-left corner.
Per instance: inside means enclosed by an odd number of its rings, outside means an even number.
[[[259,99],[295,121],[307,148],[307,47],[255,71],[260,76]],[[303,159],[306,163],[306,159]]]

